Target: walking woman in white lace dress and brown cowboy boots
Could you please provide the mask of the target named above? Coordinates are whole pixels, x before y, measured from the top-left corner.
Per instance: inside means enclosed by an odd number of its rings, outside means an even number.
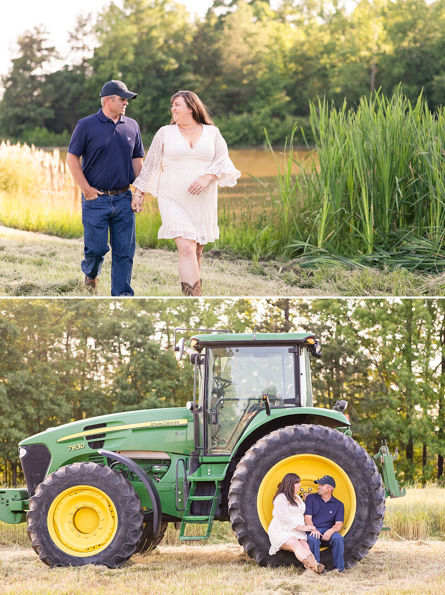
[[[171,102],[172,121],[155,134],[133,184],[141,205],[145,192],[157,196],[158,239],[175,240],[182,292],[200,296],[201,253],[219,238],[217,186],[235,186],[241,172],[200,98],[179,91]]]

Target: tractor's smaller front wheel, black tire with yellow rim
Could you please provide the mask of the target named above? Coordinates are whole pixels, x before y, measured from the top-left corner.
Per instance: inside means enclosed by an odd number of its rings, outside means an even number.
[[[92,462],[66,465],[48,475],[26,515],[33,550],[48,566],[117,568],[135,553],[143,521],[132,484]]]

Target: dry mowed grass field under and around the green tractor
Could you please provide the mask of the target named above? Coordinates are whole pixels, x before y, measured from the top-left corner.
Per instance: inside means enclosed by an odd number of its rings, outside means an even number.
[[[0,595],[443,594],[445,490],[412,487],[404,498],[387,500],[385,524],[392,527],[389,537],[379,538],[354,568],[320,576],[296,567],[260,568],[228,522],[214,524],[209,544],[182,545],[170,524],[157,549],[134,555],[117,569],[48,568],[30,548],[24,524],[0,522]]]

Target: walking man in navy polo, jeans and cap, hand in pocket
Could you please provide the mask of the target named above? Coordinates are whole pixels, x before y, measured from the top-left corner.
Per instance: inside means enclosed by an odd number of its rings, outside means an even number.
[[[135,212],[144,196],[133,198],[130,184],[145,157],[139,126],[125,117],[128,99],[136,99],[120,80],[105,83],[102,108],[77,122],[67,164],[82,189],[84,284],[97,289],[104,256],[111,244],[111,295],[133,296],[130,286],[136,249]],[[79,157],[82,156],[82,166]],[[143,209],[142,209],[143,210]]]

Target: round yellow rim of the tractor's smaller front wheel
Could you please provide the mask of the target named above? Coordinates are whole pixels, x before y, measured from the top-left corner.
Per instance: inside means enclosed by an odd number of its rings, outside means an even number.
[[[51,503],[47,525],[56,546],[83,558],[102,552],[117,531],[117,513],[105,492],[91,486],[64,490]]]

